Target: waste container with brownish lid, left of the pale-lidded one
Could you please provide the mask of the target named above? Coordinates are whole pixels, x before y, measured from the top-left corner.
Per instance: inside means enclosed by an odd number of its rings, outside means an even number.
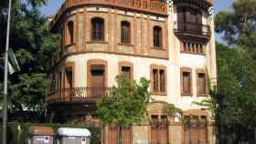
[[[27,144],[53,144],[53,136],[51,127],[30,126]]]

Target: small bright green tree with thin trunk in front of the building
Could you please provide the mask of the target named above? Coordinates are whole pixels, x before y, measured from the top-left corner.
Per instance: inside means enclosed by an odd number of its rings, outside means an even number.
[[[118,76],[116,81],[120,87],[112,90],[108,97],[97,102],[96,113],[104,126],[115,124],[119,128],[119,141],[122,140],[123,127],[140,124],[146,120],[146,108],[149,103],[149,81],[144,77],[138,83],[128,77]]]

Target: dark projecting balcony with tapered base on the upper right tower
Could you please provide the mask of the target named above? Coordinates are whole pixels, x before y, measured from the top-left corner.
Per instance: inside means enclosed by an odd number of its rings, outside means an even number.
[[[175,23],[175,34],[181,40],[196,40],[207,42],[210,39],[211,32],[208,25],[196,23]]]

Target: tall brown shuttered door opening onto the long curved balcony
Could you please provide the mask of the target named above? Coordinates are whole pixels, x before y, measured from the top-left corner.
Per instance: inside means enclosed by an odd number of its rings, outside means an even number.
[[[91,97],[100,98],[105,91],[105,66],[91,66]]]

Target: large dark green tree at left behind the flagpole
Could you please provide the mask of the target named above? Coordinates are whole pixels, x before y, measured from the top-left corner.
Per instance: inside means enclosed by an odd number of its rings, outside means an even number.
[[[50,58],[59,46],[59,36],[48,32],[48,18],[40,7],[48,0],[13,1],[10,47],[14,49],[21,70],[9,77],[8,99],[11,113],[24,109],[40,115],[45,110],[45,96],[49,87]],[[4,52],[7,0],[0,2],[0,47]],[[3,59],[0,79],[3,87]]]

